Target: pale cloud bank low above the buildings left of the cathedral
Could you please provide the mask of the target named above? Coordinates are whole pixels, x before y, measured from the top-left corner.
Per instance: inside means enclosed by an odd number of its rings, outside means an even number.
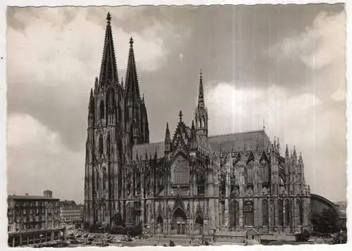
[[[55,198],[81,202],[84,153],[67,150],[54,131],[29,115],[11,115],[7,149],[9,194],[42,195],[49,189]]]

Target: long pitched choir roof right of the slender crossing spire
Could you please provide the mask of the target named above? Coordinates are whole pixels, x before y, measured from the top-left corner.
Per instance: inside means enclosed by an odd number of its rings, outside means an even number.
[[[235,134],[215,135],[208,137],[211,150],[223,153],[241,151],[246,148],[255,149],[257,144],[264,144],[264,148],[270,146],[270,141],[265,131],[246,131]]]

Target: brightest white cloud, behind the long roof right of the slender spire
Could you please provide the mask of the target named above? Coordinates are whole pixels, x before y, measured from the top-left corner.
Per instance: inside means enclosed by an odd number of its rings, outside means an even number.
[[[265,120],[265,131],[270,138],[279,137],[282,154],[286,143],[291,150],[296,146],[298,153],[302,152],[312,193],[328,198],[332,193],[344,194],[344,110],[322,106],[314,94],[291,96],[279,86],[242,90],[231,83],[220,83],[206,93],[210,134],[262,129]],[[322,158],[329,155],[334,157]],[[332,176],[341,186],[337,188],[327,180]],[[321,186],[322,180],[326,181],[325,187]]]

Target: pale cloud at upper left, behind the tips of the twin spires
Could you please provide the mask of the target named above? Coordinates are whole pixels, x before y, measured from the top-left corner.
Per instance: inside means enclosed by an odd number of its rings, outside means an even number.
[[[52,15],[52,11],[57,13]],[[7,44],[8,76],[35,78],[45,85],[52,84],[46,81],[52,76],[68,85],[74,85],[83,77],[91,85],[94,77],[99,75],[105,27],[87,20],[85,12],[77,13],[75,20],[65,25],[53,25],[65,20],[65,15],[56,8],[40,14],[43,14],[40,20],[25,13],[15,15],[26,22],[24,32],[8,27],[7,39],[11,41]],[[139,70],[161,67],[166,49],[158,30],[160,27],[153,25],[139,34],[127,34],[120,27],[113,26],[118,69],[124,70],[127,65],[131,35]]]

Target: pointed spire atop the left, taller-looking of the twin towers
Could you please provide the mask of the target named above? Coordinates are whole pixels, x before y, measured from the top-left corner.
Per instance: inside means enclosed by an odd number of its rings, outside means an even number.
[[[106,16],[106,31],[101,60],[99,84],[118,84],[118,68],[116,66],[113,32],[111,31],[111,15]]]

